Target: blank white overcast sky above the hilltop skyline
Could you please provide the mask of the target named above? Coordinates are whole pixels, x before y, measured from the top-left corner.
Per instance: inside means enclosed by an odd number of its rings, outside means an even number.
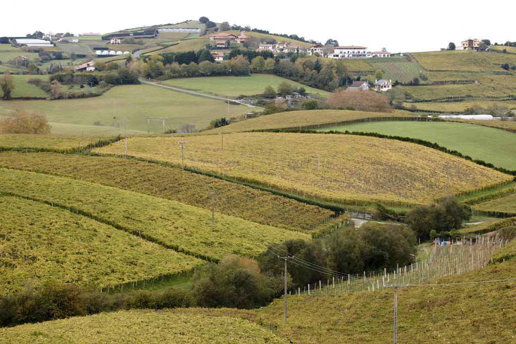
[[[197,20],[249,25],[279,34],[341,45],[364,45],[369,51],[434,51],[467,38],[492,43],[516,41],[513,1],[246,1],[214,2],[99,1],[51,3],[26,0],[2,4],[0,36],[29,32],[106,32],[120,29]],[[25,11],[25,8],[29,10]],[[9,13],[9,14],[7,14]]]

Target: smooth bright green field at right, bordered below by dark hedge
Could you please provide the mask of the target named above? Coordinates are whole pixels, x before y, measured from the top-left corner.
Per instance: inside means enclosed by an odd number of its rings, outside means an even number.
[[[516,135],[504,130],[480,125],[446,122],[370,122],[321,131],[348,130],[350,132],[379,133],[436,142],[473,159],[484,160],[494,166],[516,170]]]

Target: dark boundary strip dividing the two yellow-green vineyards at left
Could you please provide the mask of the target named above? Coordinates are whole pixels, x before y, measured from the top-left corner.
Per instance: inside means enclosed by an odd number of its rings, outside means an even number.
[[[34,172],[34,173],[37,173],[37,172]],[[60,203],[53,202],[53,201],[42,200],[42,199],[39,199],[39,198],[36,198],[36,197],[31,197],[31,196],[24,196],[24,195],[20,195],[20,194],[14,193],[14,192],[0,191],[0,195],[1,196],[9,196],[9,197],[17,197],[17,198],[21,198],[21,199],[25,199],[25,200],[29,200],[29,201],[34,201],[34,202],[50,205],[52,207],[57,207],[57,208],[60,208],[62,210],[67,210],[67,211],[72,212],[73,214],[82,215],[82,216],[90,218],[90,219],[92,219],[92,220],[94,220],[96,222],[100,222],[100,223],[106,224],[108,226],[114,227],[117,230],[124,231],[126,233],[129,233],[129,234],[132,234],[134,236],[140,237],[143,240],[146,240],[146,241],[158,244],[158,245],[160,245],[160,246],[162,246],[162,247],[164,247],[166,249],[169,249],[169,250],[172,250],[172,251],[175,251],[175,252],[178,252],[178,253],[183,253],[185,255],[192,256],[192,257],[195,257],[195,258],[199,258],[199,259],[202,259],[202,260],[205,260],[205,261],[208,261],[208,262],[212,262],[212,263],[218,263],[218,261],[219,261],[219,259],[217,259],[217,258],[208,257],[206,255],[197,254],[195,252],[190,252],[188,250],[184,250],[184,249],[179,248],[177,245],[170,245],[170,244],[164,243],[164,242],[162,242],[162,241],[160,241],[158,239],[150,237],[147,234],[141,233],[141,231],[132,230],[132,229],[124,227],[124,226],[122,226],[122,225],[120,225],[120,224],[118,224],[118,223],[116,223],[114,221],[104,219],[102,217],[99,217],[99,216],[96,216],[94,214],[91,214],[91,212],[89,212],[89,211],[85,211],[85,210],[79,209],[79,208],[74,207],[74,206],[60,204]]]

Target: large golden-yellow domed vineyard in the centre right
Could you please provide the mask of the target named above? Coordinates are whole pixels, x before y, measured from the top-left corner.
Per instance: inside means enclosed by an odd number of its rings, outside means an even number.
[[[176,139],[132,138],[133,156],[181,163]],[[421,145],[328,134],[238,133],[188,136],[185,165],[329,202],[389,205],[425,203],[446,194],[479,190],[512,177]],[[96,149],[123,154],[115,143]],[[259,155],[256,152],[260,152]]]

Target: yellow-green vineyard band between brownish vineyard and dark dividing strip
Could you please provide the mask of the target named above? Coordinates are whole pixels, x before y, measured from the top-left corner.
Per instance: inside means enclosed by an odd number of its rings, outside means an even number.
[[[280,230],[164,200],[65,177],[0,169],[0,192],[57,204],[134,235],[210,260],[235,253],[256,256],[270,242],[310,239],[307,234]]]

